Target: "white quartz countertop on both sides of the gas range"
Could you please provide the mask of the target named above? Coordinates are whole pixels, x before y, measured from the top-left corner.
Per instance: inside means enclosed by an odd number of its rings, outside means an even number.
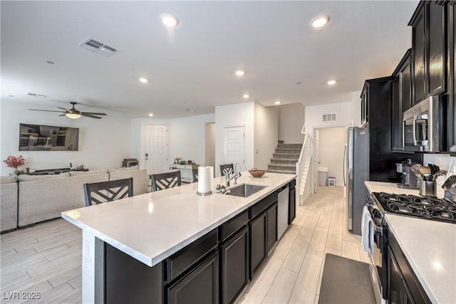
[[[393,183],[365,184],[371,193],[418,195]],[[386,221],[432,303],[456,303],[456,224],[395,214]]]

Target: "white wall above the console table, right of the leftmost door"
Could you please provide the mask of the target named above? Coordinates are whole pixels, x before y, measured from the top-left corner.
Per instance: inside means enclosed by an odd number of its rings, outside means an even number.
[[[168,130],[170,159],[182,157],[197,164],[205,164],[206,123],[214,120],[214,114],[170,119]]]

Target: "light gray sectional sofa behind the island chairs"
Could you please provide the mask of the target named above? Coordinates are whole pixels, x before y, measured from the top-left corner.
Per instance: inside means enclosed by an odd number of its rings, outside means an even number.
[[[133,195],[147,192],[149,177],[146,170],[137,168],[2,177],[1,231],[55,219],[62,211],[86,206],[83,184],[129,177],[133,177]]]

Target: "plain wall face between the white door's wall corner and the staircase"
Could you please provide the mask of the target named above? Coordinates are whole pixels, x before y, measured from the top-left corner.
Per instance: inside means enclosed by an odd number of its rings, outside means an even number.
[[[254,167],[267,169],[277,147],[279,109],[255,103],[254,119]]]

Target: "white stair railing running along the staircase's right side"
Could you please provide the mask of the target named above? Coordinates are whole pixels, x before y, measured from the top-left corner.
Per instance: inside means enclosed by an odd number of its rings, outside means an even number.
[[[296,162],[296,173],[298,174],[298,191],[296,192],[296,199],[299,199],[299,205],[303,205],[304,201],[311,194],[311,184],[309,177],[311,167],[311,145],[309,135],[304,132],[304,125],[302,126],[301,134],[304,134],[304,143],[299,154],[298,162]],[[299,195],[298,195],[299,194]]]

